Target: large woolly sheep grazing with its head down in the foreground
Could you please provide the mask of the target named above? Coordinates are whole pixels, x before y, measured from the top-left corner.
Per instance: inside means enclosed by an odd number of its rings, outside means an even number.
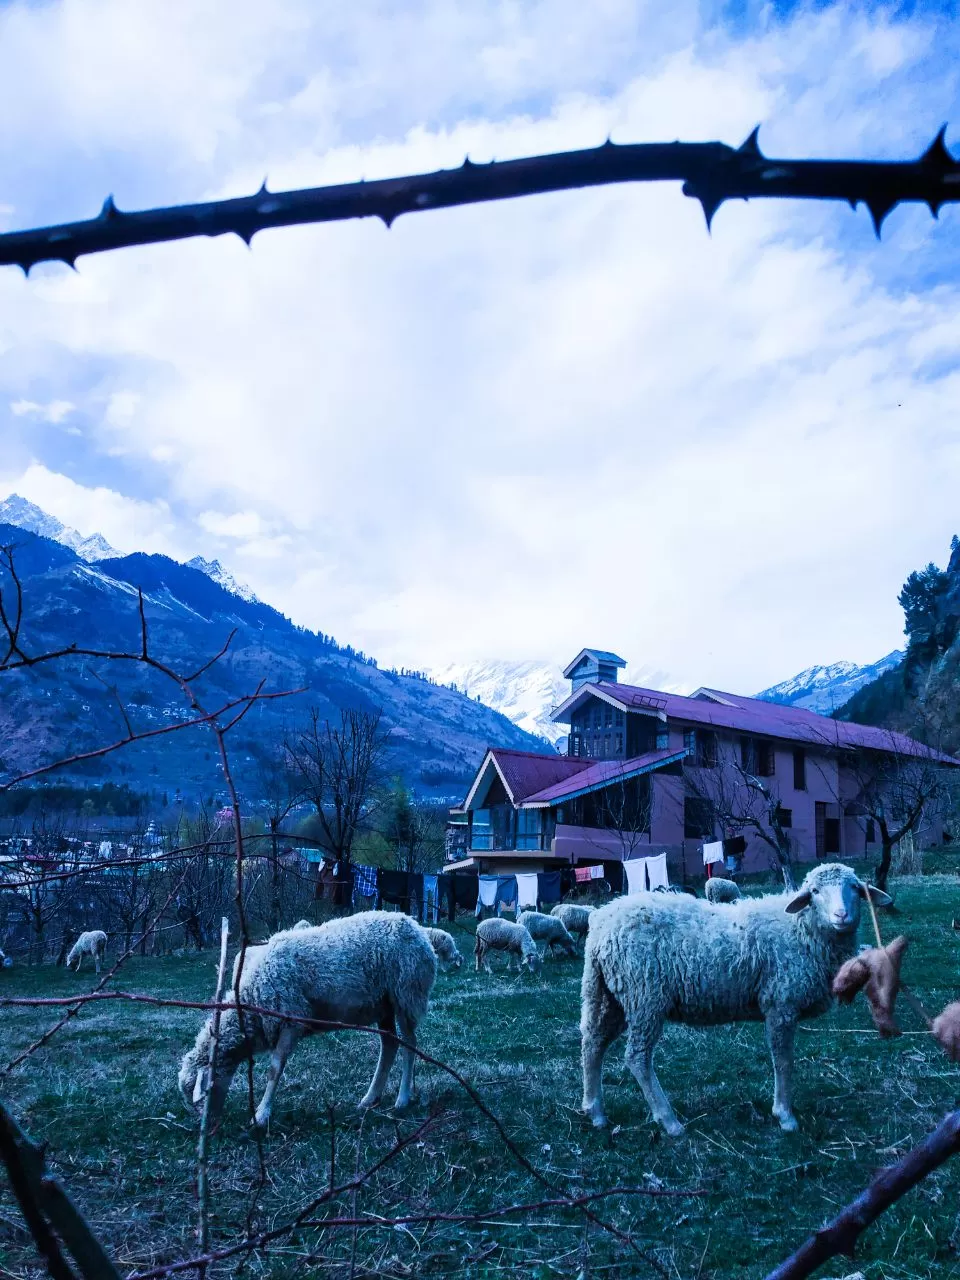
[[[247,948],[247,955],[255,950]],[[234,1009],[220,1018],[216,1071],[209,1080],[212,1019],[200,1029],[196,1044],[184,1055],[179,1088],[187,1105],[212,1089],[211,1119],[223,1111],[227,1091],[241,1062],[271,1051],[266,1088],[255,1123],[270,1119],[273,1097],[287,1059],[305,1036],[324,1030],[284,1018],[376,1024],[380,1057],[370,1088],[360,1106],[379,1101],[403,1041],[403,1070],[397,1106],[404,1107],[413,1088],[416,1030],[426,1012],[436,977],[436,957],[424,931],[399,911],[364,911],[308,929],[275,933],[251,968],[243,965],[241,1004],[269,1009],[276,1016],[244,1012],[243,1027]],[[232,997],[227,1002],[233,1002]],[[246,1034],[244,1034],[246,1033]]]

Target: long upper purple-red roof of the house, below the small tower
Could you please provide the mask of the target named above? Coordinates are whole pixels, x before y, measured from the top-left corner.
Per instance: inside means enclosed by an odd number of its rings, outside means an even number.
[[[699,689],[691,698],[685,698],[681,694],[663,694],[655,689],[641,689],[635,685],[600,682],[584,685],[579,692],[596,692],[605,701],[613,701],[625,710],[649,712],[652,701],[655,700],[662,708],[662,718],[733,730],[739,733],[785,739],[823,750],[832,748],[896,751],[901,755],[940,760],[943,764],[960,764],[955,756],[943,755],[905,733],[896,733],[876,724],[835,721],[827,716],[818,716],[817,712],[809,712],[804,707],[783,707],[780,703],[765,703],[758,698],[727,694],[717,689]],[[567,699],[567,703],[570,701],[571,699]],[[563,708],[558,708],[554,716],[562,710]]]

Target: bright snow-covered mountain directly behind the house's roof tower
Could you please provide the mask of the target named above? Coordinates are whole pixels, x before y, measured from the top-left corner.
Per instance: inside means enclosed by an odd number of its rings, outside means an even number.
[[[558,750],[563,746],[568,728],[554,724],[550,712],[570,696],[570,681],[552,662],[490,662],[452,663],[429,672],[440,685],[453,685],[470,698],[506,716],[527,733],[547,739]],[[622,675],[625,685],[643,685],[662,689],[669,694],[689,692],[667,672],[653,667],[627,667]],[[566,750],[566,748],[563,748]]]

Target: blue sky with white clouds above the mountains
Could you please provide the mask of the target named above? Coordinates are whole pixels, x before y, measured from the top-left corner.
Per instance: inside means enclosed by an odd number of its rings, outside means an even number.
[[[614,141],[960,150],[923,8],[0,6],[0,230]],[[960,212],[678,186],[0,269],[0,497],[383,662],[742,691],[901,643],[960,530]]]

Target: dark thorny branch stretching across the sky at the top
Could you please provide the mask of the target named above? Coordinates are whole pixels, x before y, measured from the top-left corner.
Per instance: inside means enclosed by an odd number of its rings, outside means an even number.
[[[376,182],[301,191],[268,191],[169,209],[123,212],[108,196],[97,218],[0,236],[0,265],[28,273],[37,262],[73,266],[84,253],[131,244],[159,244],[193,236],[239,236],[250,244],[270,227],[380,218],[387,227],[401,214],[511,200],[549,191],[623,182],[682,182],[700,201],[707,225],[724,200],[844,200],[869,209],[879,236],[883,219],[902,201],[924,204],[937,216],[960,200],[960,164],[947,151],[946,125],[918,160],[785,160],[760,152],[758,129],[739,147],[724,142],[639,142],[563,151],[521,160]]]

